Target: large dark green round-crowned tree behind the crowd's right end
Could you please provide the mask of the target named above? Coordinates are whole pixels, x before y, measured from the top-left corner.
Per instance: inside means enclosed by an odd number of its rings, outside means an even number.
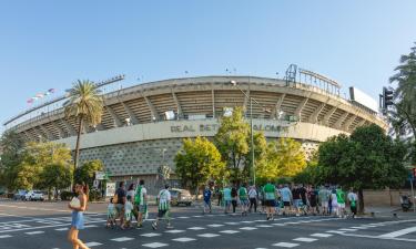
[[[321,144],[321,181],[341,184],[358,190],[358,210],[364,211],[364,189],[399,187],[406,179],[406,147],[394,142],[377,125],[356,128],[351,137],[338,135]]]

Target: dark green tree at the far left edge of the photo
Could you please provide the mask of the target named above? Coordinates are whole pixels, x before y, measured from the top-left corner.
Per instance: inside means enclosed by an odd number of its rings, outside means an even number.
[[[1,159],[0,159],[0,186],[8,190],[16,189],[14,179],[17,178],[17,168],[22,160],[22,149],[24,147],[23,138],[14,131],[7,131],[0,139]]]

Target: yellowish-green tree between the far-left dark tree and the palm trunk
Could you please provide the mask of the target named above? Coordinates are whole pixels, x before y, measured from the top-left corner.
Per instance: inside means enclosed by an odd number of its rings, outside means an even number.
[[[68,165],[71,151],[64,144],[30,142],[22,151],[22,160],[17,166],[17,188],[42,188],[42,173],[48,165]]]

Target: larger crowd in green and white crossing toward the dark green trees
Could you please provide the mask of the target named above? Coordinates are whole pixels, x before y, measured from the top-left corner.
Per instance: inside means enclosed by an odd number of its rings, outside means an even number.
[[[211,211],[210,188],[204,190],[204,212]],[[262,187],[247,186],[243,184],[227,185],[217,191],[219,206],[224,212],[236,212],[240,206],[242,216],[248,212],[257,212],[257,205],[261,205],[260,212],[266,214],[266,219],[274,219],[276,215],[301,216],[301,215],[324,215],[338,217],[355,217],[357,214],[358,196],[353,188],[346,193],[341,186],[312,185],[274,185],[267,183]],[[346,209],[349,206],[349,211]]]

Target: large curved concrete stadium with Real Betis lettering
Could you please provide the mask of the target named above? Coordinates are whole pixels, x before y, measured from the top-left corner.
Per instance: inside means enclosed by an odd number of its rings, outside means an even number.
[[[121,75],[97,84],[123,80]],[[101,159],[112,180],[140,177],[155,186],[162,165],[174,172],[182,139],[213,137],[219,120],[235,106],[245,106],[254,131],[263,131],[267,139],[292,137],[306,155],[329,136],[362,125],[387,128],[375,101],[354,87],[349,94],[342,97],[337,82],[293,64],[284,79],[199,76],[118,89],[103,93],[102,123],[83,127],[80,160]],[[6,129],[26,141],[54,141],[74,149],[77,121],[64,117],[67,97],[27,110],[7,121]]]

